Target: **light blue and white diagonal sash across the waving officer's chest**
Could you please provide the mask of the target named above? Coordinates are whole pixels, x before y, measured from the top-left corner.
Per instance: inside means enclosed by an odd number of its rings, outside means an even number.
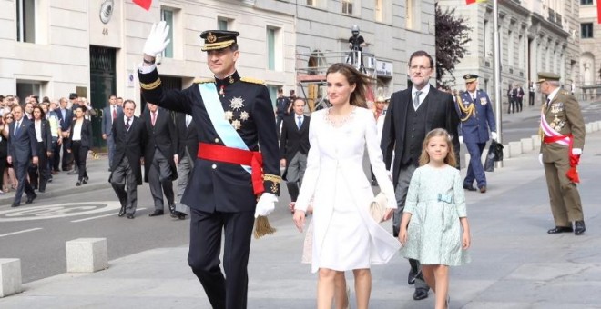
[[[205,103],[205,108],[209,114],[210,122],[213,123],[213,127],[215,128],[215,131],[217,131],[217,135],[219,135],[221,141],[223,141],[223,144],[231,148],[249,150],[249,147],[244,143],[244,140],[240,137],[238,132],[236,132],[236,129],[234,129],[234,127],[229,124],[229,121],[223,116],[225,111],[223,110],[223,106],[221,106],[221,100],[219,100],[215,84],[199,84],[199,90],[202,101]],[[240,166],[251,173],[252,169],[250,166]]]

